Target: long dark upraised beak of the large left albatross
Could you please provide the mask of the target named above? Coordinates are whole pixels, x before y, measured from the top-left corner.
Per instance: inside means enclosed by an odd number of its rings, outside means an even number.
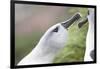
[[[61,25],[64,26],[66,29],[69,28],[75,21],[77,21],[79,18],[81,18],[81,15],[79,13],[76,13],[73,15],[70,19],[68,19],[65,22],[62,22]]]

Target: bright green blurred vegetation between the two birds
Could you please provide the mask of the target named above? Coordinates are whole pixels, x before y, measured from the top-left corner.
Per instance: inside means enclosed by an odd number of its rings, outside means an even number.
[[[80,12],[82,18],[87,15],[86,8],[71,9],[69,12]],[[84,60],[86,34],[88,30],[88,23],[78,28],[78,23],[74,23],[68,30],[69,38],[66,46],[56,55],[54,63],[65,62],[82,62]]]

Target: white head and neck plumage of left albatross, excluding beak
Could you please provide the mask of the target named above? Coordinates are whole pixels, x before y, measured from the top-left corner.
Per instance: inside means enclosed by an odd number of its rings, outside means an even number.
[[[59,33],[52,30],[59,26]],[[51,33],[50,33],[51,32]],[[56,33],[56,34],[55,34]],[[57,37],[58,36],[58,37]],[[52,62],[55,54],[64,47],[67,31],[61,24],[56,24],[43,35],[38,45],[19,64],[44,64]]]

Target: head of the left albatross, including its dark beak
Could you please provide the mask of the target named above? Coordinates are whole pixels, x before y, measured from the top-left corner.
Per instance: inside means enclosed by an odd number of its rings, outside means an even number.
[[[69,26],[72,25],[75,21],[77,21],[80,17],[80,14],[76,13],[69,20],[53,25],[43,35],[43,37],[40,40],[40,43],[42,43],[45,46],[49,45],[53,48],[64,47],[64,44],[66,44],[66,41],[68,39],[67,30]]]

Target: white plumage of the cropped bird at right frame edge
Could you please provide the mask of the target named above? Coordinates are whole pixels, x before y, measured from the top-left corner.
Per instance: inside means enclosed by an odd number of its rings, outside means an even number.
[[[84,61],[93,61],[90,53],[92,50],[94,50],[94,9],[89,8],[89,15],[87,16],[87,18],[89,21],[89,28],[86,38],[86,51]]]

